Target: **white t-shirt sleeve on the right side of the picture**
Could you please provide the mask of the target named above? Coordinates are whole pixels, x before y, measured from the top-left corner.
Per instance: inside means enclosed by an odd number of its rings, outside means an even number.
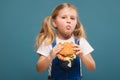
[[[94,51],[93,47],[84,38],[80,39],[80,47],[81,47],[81,50],[83,51],[83,55],[87,55],[92,51]]]

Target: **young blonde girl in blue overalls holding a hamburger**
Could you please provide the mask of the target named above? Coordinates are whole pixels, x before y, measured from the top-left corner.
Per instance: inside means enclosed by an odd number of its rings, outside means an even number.
[[[69,3],[58,5],[45,18],[36,37],[37,53],[40,54],[37,71],[42,72],[48,68],[48,80],[81,80],[81,62],[88,70],[95,69],[95,61],[90,54],[94,49],[85,38],[76,7]],[[72,47],[77,57],[71,67],[66,67],[65,61],[58,57],[64,48],[59,42],[74,42]]]

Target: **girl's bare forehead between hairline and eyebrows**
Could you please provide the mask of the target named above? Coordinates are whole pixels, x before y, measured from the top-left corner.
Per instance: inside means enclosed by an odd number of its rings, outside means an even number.
[[[63,8],[63,9],[61,9],[59,11],[58,15],[73,15],[73,16],[77,16],[77,11],[74,8],[65,7],[65,8]]]

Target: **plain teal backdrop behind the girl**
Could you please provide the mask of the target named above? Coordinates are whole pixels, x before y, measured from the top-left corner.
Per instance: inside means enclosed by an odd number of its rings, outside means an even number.
[[[120,0],[0,0],[0,80],[47,80],[36,71],[35,37],[42,20],[60,3],[78,8],[96,70],[84,80],[120,79]]]

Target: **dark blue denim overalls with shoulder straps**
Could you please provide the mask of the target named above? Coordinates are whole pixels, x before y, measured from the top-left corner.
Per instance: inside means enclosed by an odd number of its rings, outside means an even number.
[[[75,43],[79,45],[79,41],[76,38]],[[52,47],[55,45],[56,41],[52,43]],[[48,76],[48,80],[81,80],[80,57],[76,56],[71,63],[72,67],[68,67],[68,61],[62,61],[58,57],[53,59],[51,75]]]

